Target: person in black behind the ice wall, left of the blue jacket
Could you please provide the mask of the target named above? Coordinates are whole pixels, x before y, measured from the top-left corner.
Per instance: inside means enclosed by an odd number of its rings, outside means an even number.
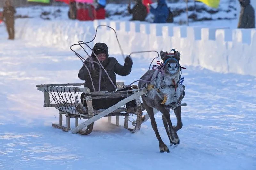
[[[144,21],[148,15],[147,8],[142,4],[141,0],[136,0],[136,4],[131,9],[130,4],[128,5],[128,12],[132,14],[133,21]]]

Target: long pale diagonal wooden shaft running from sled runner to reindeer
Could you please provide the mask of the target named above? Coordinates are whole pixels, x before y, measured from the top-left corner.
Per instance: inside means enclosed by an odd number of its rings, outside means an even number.
[[[92,118],[88,119],[87,121],[79,124],[76,128],[74,128],[72,130],[72,133],[77,133],[79,132],[81,129],[85,128],[86,126],[90,125],[91,123],[99,120],[100,118],[108,115],[109,113],[115,111],[118,107],[123,106],[124,104],[126,104],[127,102],[130,102],[140,96],[142,96],[143,94],[147,93],[147,89],[143,88],[141,91],[139,92],[135,92],[133,95],[119,101],[118,103],[116,103],[115,105],[113,105],[112,107],[109,107],[108,109],[104,110],[103,112],[101,112],[98,115],[93,116]]]

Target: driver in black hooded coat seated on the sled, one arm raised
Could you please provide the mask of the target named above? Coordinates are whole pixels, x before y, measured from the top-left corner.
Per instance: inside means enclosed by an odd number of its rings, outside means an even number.
[[[97,55],[97,56],[95,56],[93,53],[91,54],[93,61],[96,61],[97,63],[99,63],[97,58],[99,59],[100,63],[107,71],[107,73],[108,73],[109,77],[111,78],[111,80],[113,81],[114,85],[116,85],[116,74],[121,75],[121,76],[127,76],[128,74],[130,74],[131,69],[132,69],[132,64],[133,64],[132,59],[130,57],[125,58],[124,66],[122,66],[121,64],[119,64],[117,62],[116,58],[108,57],[108,46],[106,44],[96,43],[95,46],[92,48],[92,50]],[[84,62],[84,65],[87,66],[87,68],[89,69],[89,71],[91,73],[95,91],[99,90],[99,84],[100,84],[100,91],[109,91],[109,92],[115,91],[116,88],[109,80],[105,71],[102,69],[101,82],[99,82],[99,76],[100,76],[99,65],[94,63],[95,69],[93,70],[92,64],[88,61],[89,61],[89,59],[87,58],[86,61]],[[80,69],[80,71],[78,73],[78,77],[81,80],[85,80],[84,87],[88,87],[90,89],[90,91],[93,92],[94,89],[92,86],[92,81],[90,79],[89,72],[84,65]],[[83,99],[83,96],[81,95],[81,100],[82,99]],[[119,99],[119,98],[113,98],[111,100],[96,99],[96,100],[92,100],[92,104],[96,110],[107,109],[108,107],[113,106],[120,100],[122,100],[122,99]]]

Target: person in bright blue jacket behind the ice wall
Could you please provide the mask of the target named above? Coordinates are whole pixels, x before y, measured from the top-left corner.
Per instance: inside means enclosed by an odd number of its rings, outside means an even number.
[[[150,12],[155,15],[154,23],[166,23],[169,15],[169,9],[165,0],[157,0],[157,7],[153,8],[150,5]]]

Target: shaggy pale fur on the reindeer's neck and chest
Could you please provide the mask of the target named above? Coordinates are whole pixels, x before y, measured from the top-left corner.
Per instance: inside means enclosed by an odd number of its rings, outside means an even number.
[[[180,76],[180,69],[175,74],[170,74],[164,72],[162,75],[160,72],[158,73],[158,76],[156,78],[156,88],[159,89],[160,95],[164,97],[167,96],[166,105],[169,105],[170,103],[178,103],[179,97],[183,93],[183,87],[182,85],[179,85],[179,76]],[[174,82],[178,87],[175,91],[175,85],[172,82],[172,79],[174,79]]]

